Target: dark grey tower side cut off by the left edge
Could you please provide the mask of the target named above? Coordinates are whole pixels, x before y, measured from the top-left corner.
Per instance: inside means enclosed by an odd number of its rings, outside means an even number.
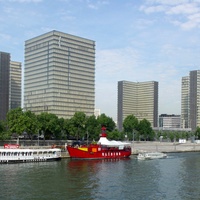
[[[10,54],[0,52],[0,120],[6,119],[9,110]]]

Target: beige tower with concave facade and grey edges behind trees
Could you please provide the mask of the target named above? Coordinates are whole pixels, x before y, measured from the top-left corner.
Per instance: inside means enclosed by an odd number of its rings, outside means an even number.
[[[158,82],[118,82],[118,128],[128,115],[147,119],[152,127],[158,124]]]

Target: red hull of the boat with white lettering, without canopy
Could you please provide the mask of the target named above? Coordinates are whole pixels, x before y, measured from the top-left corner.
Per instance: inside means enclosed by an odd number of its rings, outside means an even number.
[[[67,150],[71,158],[81,159],[127,158],[131,155],[130,147],[119,149],[116,147],[102,147],[100,145],[91,145],[89,147],[81,149],[77,147],[67,146]]]

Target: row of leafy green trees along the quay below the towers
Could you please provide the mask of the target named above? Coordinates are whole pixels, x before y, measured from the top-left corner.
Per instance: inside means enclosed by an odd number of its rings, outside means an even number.
[[[72,118],[64,119],[52,113],[36,115],[16,108],[7,113],[6,121],[0,121],[0,139],[26,133],[31,140],[38,135],[43,135],[44,139],[98,140],[102,125],[106,126],[108,138],[113,140],[133,140],[134,136],[138,140],[153,140],[155,135],[150,122],[146,119],[139,122],[133,115],[124,120],[124,130],[120,132],[113,119],[105,114],[96,118],[94,115],[87,117],[83,112],[76,112]]]

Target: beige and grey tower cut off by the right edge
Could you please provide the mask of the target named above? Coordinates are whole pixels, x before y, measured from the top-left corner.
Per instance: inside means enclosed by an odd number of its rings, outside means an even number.
[[[181,121],[183,128],[200,127],[200,70],[182,78]]]

